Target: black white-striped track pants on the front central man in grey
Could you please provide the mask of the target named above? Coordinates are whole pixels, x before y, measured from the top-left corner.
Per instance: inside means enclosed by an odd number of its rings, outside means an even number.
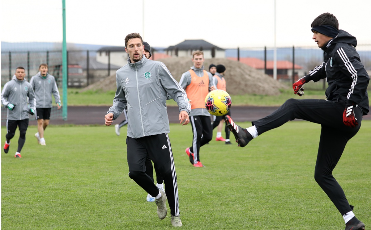
[[[149,156],[164,178],[171,215],[179,216],[177,175],[168,134],[163,133],[135,139],[127,137],[126,144],[129,177],[151,196],[158,195],[158,188],[151,177],[145,173],[145,160]]]

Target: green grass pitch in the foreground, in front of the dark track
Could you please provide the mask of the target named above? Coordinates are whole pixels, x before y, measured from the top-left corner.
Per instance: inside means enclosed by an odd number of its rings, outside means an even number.
[[[291,121],[244,148],[213,139],[201,147],[203,168],[184,152],[191,126],[170,129],[183,229],[344,229],[313,178],[318,124]],[[117,137],[113,126],[50,125],[47,146],[37,144],[36,131],[27,130],[21,159],[14,158],[18,131],[9,153],[1,153],[2,229],[172,229],[170,213],[158,219],[155,204],[128,177],[125,127]],[[366,229],[370,139],[371,121],[363,121],[333,172]]]

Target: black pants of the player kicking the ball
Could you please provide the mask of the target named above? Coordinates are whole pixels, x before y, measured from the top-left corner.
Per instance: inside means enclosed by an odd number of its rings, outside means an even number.
[[[357,134],[362,121],[362,109],[355,107],[358,126],[354,128],[345,126],[342,119],[344,109],[345,102],[342,100],[289,99],[267,117],[252,121],[259,135],[294,119],[321,124],[314,178],[341,215],[351,211],[352,208],[341,186],[332,176],[332,170],[338,163],[348,140]]]

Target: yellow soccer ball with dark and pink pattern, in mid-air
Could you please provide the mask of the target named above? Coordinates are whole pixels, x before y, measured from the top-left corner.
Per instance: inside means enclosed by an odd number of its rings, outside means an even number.
[[[214,116],[223,116],[228,113],[232,99],[224,90],[213,90],[205,98],[205,107]]]

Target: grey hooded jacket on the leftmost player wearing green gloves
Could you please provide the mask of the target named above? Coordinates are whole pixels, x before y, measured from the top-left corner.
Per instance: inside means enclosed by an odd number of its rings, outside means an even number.
[[[7,109],[7,120],[29,119],[29,109],[35,108],[35,93],[30,83],[26,80],[18,80],[15,76],[5,83],[1,92],[1,103]],[[7,104],[13,104],[13,110],[9,110]]]

